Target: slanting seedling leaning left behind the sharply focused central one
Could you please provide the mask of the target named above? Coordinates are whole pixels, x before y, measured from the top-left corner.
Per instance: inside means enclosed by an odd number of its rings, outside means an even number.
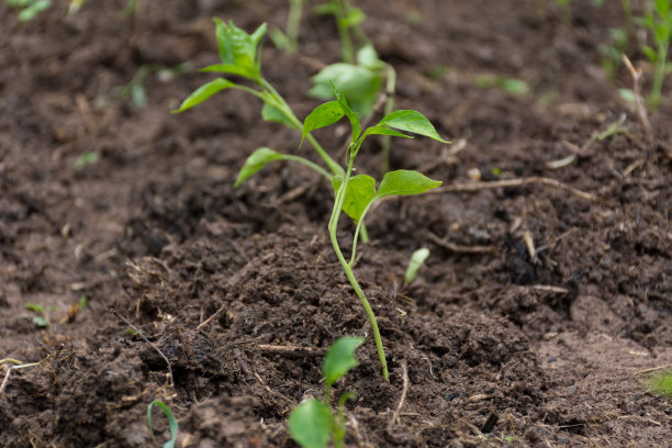
[[[226,89],[238,89],[257,97],[264,102],[264,107],[261,109],[261,117],[264,120],[278,122],[288,127],[301,131],[301,121],[296,117],[292,109],[280,96],[280,93],[261,76],[260,43],[261,38],[266,34],[266,24],[259,26],[253,34],[247,34],[245,31],[236,27],[233,23],[227,25],[220,19],[215,19],[215,24],[222,64],[205,67],[201,71],[223,72],[240,77],[250,81],[253,87],[233,82],[226,78],[220,77],[197,89],[175,112],[183,112],[191,109],[220,91]],[[326,153],[320,143],[312,135],[306,135],[305,137],[313,146],[317,155],[325,163],[331,173],[324,169],[316,169],[316,171],[325,176],[327,179],[331,179],[333,175],[343,175],[343,168],[340,168],[340,166]],[[256,171],[258,171],[271,160],[287,159],[301,161],[314,169],[316,167],[316,165],[310,160],[300,158],[298,156],[291,156],[291,158],[266,157],[266,163],[259,164],[261,158],[260,156],[269,155],[266,149],[268,148],[265,148],[261,154],[253,154],[251,157],[254,157],[254,159],[251,161],[248,160],[246,166],[253,164],[257,167]],[[276,155],[280,155],[280,153],[276,153]],[[251,176],[251,173],[249,176]],[[242,179],[240,182],[245,179]]]

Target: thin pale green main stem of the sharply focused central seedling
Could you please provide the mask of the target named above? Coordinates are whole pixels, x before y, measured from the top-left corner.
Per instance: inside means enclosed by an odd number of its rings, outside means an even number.
[[[355,154],[355,152],[350,152]],[[346,261],[343,256],[343,251],[340,250],[340,246],[338,246],[338,238],[336,236],[336,232],[338,229],[338,219],[340,217],[340,211],[343,210],[343,203],[345,201],[345,195],[348,187],[348,181],[350,179],[350,173],[352,172],[352,165],[355,163],[355,156],[350,156],[350,161],[348,163],[348,168],[345,173],[345,178],[343,180],[343,184],[338,189],[336,193],[336,199],[334,201],[334,210],[332,211],[332,217],[329,220],[329,237],[332,239],[332,246],[334,246],[334,251],[336,253],[336,257],[338,257],[338,261],[343,267],[343,270],[350,282],[350,285],[355,290],[355,293],[359,298],[361,305],[367,313],[367,317],[369,318],[369,323],[371,324],[371,329],[373,332],[373,338],[376,339],[376,348],[378,350],[378,357],[380,358],[380,363],[382,365],[382,374],[387,382],[390,382],[390,374],[388,373],[388,361],[385,360],[385,351],[383,349],[382,339],[380,337],[380,331],[378,329],[378,322],[376,322],[376,314],[373,314],[373,310],[369,304],[363,291],[359,287],[355,275],[352,273],[352,268]]]

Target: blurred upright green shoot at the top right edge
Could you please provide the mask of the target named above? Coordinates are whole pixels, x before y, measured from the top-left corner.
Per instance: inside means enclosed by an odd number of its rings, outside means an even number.
[[[672,72],[672,64],[668,61],[668,51],[672,35],[672,5],[670,0],[654,0],[641,23],[649,29],[656,43],[656,48],[648,45],[642,47],[643,54],[656,67],[653,85],[649,96],[649,104],[656,111],[662,100],[662,86],[665,76]]]

